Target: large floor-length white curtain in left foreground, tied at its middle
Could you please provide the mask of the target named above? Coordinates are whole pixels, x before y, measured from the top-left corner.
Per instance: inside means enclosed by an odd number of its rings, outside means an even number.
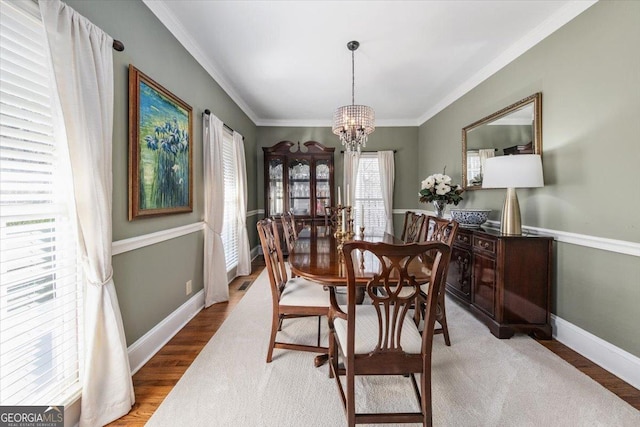
[[[41,1],[55,81],[56,138],[68,146],[84,261],[80,426],[107,424],[135,401],[113,270],[113,39],[58,0]]]

